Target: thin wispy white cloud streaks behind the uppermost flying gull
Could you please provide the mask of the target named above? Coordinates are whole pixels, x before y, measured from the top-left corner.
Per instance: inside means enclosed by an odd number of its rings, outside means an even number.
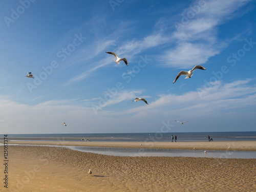
[[[74,65],[74,63],[88,62],[90,63],[90,65],[88,65],[89,69],[72,77],[66,84],[86,79],[94,71],[113,63],[113,56],[99,56],[100,54],[103,55],[105,51],[115,52],[119,57],[128,56],[127,58],[132,60],[136,54],[139,54],[146,49],[166,44],[171,37],[164,35],[161,30],[161,25],[159,26],[158,23],[157,27],[154,27],[152,33],[139,39],[133,38],[125,41],[123,40],[125,39],[123,34],[126,34],[130,30],[129,27],[131,24],[120,24],[121,27],[118,27],[117,30],[113,31],[108,36],[96,34],[95,36],[97,36],[97,38],[93,40],[90,39],[84,43],[85,46],[82,49],[79,49],[79,54],[72,57],[72,61],[69,60],[71,63],[69,66]],[[117,45],[118,47],[114,50],[108,50],[113,45]]]

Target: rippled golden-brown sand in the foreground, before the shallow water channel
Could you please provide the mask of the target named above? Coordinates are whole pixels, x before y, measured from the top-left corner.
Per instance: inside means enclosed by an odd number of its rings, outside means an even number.
[[[256,159],[119,157],[19,145],[9,145],[8,158],[9,190],[2,183],[1,191],[256,191]]]

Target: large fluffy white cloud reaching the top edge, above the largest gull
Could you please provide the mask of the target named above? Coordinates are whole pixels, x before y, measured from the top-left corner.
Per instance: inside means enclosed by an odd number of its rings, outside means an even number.
[[[205,5],[197,13],[194,12],[194,17],[186,18],[186,23],[178,20],[175,23],[179,26],[178,30],[172,35],[177,45],[161,56],[165,61],[164,66],[190,68],[219,54],[227,43],[218,39],[218,26],[236,17],[233,13],[248,2],[249,0],[205,1]],[[186,16],[188,11],[191,12],[190,7],[184,9],[183,15]]]

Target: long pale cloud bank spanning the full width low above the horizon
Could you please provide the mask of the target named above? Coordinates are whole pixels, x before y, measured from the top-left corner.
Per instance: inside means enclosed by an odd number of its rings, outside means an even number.
[[[244,109],[248,106],[255,108],[256,103],[256,87],[250,79],[230,83],[218,81],[202,98],[198,91],[191,91],[181,95],[158,95],[155,100],[151,98],[148,105],[131,104],[135,97],[150,98],[150,96],[141,94],[143,90],[119,91],[114,98],[101,106],[102,110],[99,110],[97,114],[93,113],[91,106],[81,105],[79,99],[49,100],[36,105],[20,104],[7,98],[1,99],[0,117],[4,120],[1,126],[3,130],[8,128],[9,133],[17,133],[16,127],[19,127],[20,133],[38,133],[38,130],[42,133],[70,133],[69,129],[63,130],[61,126],[67,121],[70,127],[72,125],[74,133],[84,132],[84,124],[87,125],[88,131],[90,127],[100,129],[102,126],[110,127],[114,124],[116,127],[122,126],[123,129],[128,129],[130,124],[124,125],[123,122],[130,122],[131,117],[134,118],[135,124],[142,120],[153,123],[159,121],[159,118],[174,119],[177,117],[200,120],[224,115],[228,118],[236,116],[236,119],[239,119],[244,118],[240,117],[241,110],[243,110],[243,115],[248,113],[251,116],[253,112]],[[96,98],[91,101],[97,103]],[[82,102],[91,103],[91,101]],[[117,108],[116,110],[115,104],[121,102],[129,102],[131,104],[129,109]],[[113,106],[113,108],[108,106]],[[116,121],[119,117],[122,121]],[[114,124],[105,123],[112,122],[112,120]]]

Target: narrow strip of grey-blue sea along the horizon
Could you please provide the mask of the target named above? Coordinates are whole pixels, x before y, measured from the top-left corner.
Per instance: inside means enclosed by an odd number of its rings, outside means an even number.
[[[8,134],[8,139],[77,141],[88,138],[91,141],[170,141],[172,135],[177,136],[177,141],[208,141],[208,135],[213,141],[256,140],[256,132]],[[4,134],[2,134],[2,138],[4,138]]]

